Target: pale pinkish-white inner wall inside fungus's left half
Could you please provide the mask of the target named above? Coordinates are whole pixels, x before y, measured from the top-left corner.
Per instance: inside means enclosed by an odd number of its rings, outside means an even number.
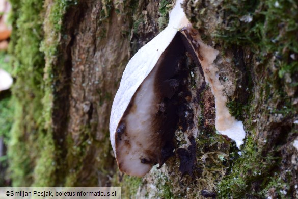
[[[125,158],[118,157],[117,161],[121,163],[121,169],[132,176],[142,177],[152,167],[152,164],[141,163],[140,158],[148,160],[148,155],[145,151],[150,151],[155,147],[151,124],[153,115],[158,111],[159,107],[157,106],[157,98],[154,95],[154,79],[156,75],[156,70],[154,69],[144,80],[134,98],[135,112],[129,113],[125,118],[125,123],[127,124],[125,131],[131,138],[129,140],[130,148],[127,147],[125,141],[119,142],[117,146],[125,154]]]

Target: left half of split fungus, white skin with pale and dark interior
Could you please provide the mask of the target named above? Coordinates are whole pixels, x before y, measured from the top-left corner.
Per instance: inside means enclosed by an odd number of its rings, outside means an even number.
[[[188,23],[183,12],[176,12],[180,3],[170,14],[169,26],[129,61],[113,102],[112,147],[119,169],[132,176],[144,176],[173,155],[178,122],[174,95],[182,85],[185,54],[178,30]]]

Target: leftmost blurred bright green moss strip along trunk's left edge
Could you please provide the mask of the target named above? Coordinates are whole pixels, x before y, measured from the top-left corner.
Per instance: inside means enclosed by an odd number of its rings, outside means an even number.
[[[11,1],[13,34],[13,92],[15,107],[8,156],[13,186],[29,186],[36,157],[39,156],[42,126],[44,55],[39,51],[42,31],[43,1]]]

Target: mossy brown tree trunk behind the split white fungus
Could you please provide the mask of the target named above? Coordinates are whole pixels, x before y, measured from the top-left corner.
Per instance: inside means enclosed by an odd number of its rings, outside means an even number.
[[[214,97],[200,83],[199,66],[189,64],[194,169],[182,175],[175,153],[144,178],[118,170],[109,119],[126,64],[167,26],[173,2],[11,3],[13,186],[121,186],[125,197],[298,197],[296,2],[183,4],[202,40],[220,52],[219,79],[231,114],[243,121],[245,144],[239,151],[216,133]],[[187,139],[177,130],[175,147],[185,148]]]

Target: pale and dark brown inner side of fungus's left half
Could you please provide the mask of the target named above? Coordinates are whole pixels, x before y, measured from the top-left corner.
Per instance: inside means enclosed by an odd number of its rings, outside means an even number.
[[[130,175],[144,176],[173,155],[179,104],[174,95],[182,83],[178,72],[184,55],[180,37],[174,37],[137,89],[116,129],[118,166]]]

